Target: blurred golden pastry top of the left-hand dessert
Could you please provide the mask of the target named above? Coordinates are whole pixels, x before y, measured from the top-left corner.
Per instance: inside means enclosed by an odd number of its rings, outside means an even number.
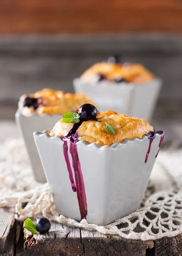
[[[18,109],[24,116],[29,116],[31,113],[54,115],[74,112],[85,103],[94,104],[89,97],[82,93],[71,94],[45,88],[34,94],[21,96]]]

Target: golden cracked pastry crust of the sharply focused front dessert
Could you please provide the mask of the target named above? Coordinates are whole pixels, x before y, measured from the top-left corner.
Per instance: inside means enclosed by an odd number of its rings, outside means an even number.
[[[105,122],[116,129],[116,134],[108,134],[104,129]],[[65,137],[73,128],[74,123],[65,123],[59,120],[54,126],[50,136]],[[143,135],[153,131],[153,127],[145,119],[138,119],[114,111],[97,113],[97,121],[89,120],[82,122],[77,129],[78,140],[98,145],[112,145],[123,140],[132,140],[134,137],[141,139]]]

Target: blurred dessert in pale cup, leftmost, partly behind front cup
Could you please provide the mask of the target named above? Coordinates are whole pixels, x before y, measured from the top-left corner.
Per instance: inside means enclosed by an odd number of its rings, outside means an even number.
[[[33,132],[52,129],[64,113],[76,111],[85,103],[93,104],[93,101],[82,93],[64,93],[48,88],[20,97],[15,118],[38,182],[46,182],[46,176],[34,143]]]

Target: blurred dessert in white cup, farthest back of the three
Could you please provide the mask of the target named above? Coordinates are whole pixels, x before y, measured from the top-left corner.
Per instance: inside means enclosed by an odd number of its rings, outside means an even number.
[[[88,68],[73,84],[74,90],[90,96],[101,112],[112,109],[150,122],[162,82],[141,64],[121,64],[110,57],[108,62]]]

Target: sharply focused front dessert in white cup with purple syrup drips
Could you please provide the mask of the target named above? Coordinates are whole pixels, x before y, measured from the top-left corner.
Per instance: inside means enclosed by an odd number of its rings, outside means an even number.
[[[91,104],[34,132],[59,214],[107,225],[139,208],[164,133]],[[72,167],[71,167],[72,166]]]

